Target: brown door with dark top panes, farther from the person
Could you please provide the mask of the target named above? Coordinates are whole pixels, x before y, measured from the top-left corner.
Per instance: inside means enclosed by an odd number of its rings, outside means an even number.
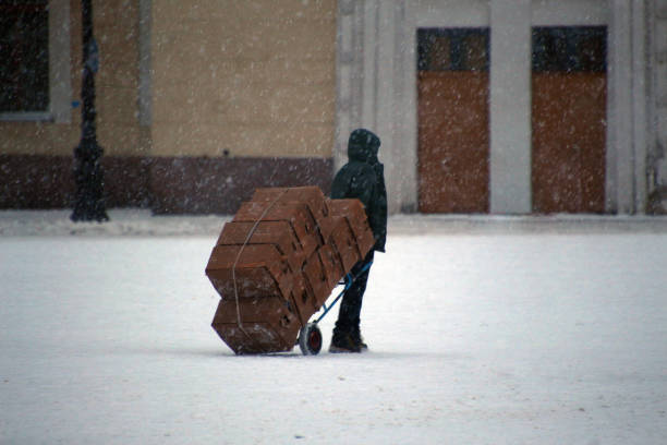
[[[604,36],[605,29],[597,27],[533,31],[531,182],[535,213],[605,209]]]

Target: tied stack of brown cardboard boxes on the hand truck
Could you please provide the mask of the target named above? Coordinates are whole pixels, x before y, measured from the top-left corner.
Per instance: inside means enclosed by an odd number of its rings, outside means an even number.
[[[374,243],[359,200],[329,200],[317,187],[257,189],[206,266],[221,297],[214,329],[235,353],[291,350]]]

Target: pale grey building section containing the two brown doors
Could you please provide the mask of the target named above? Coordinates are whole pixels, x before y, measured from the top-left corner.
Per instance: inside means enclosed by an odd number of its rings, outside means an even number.
[[[335,165],[376,129],[392,212],[660,212],[667,2],[338,7]]]

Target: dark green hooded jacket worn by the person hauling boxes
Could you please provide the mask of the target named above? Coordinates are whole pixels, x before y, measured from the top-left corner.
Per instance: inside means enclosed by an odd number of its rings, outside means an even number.
[[[375,237],[374,250],[384,252],[387,239],[387,189],[384,166],[377,158],[380,140],[365,129],[354,130],[348,142],[348,164],[333,178],[332,199],[356,197],[365,207]]]

